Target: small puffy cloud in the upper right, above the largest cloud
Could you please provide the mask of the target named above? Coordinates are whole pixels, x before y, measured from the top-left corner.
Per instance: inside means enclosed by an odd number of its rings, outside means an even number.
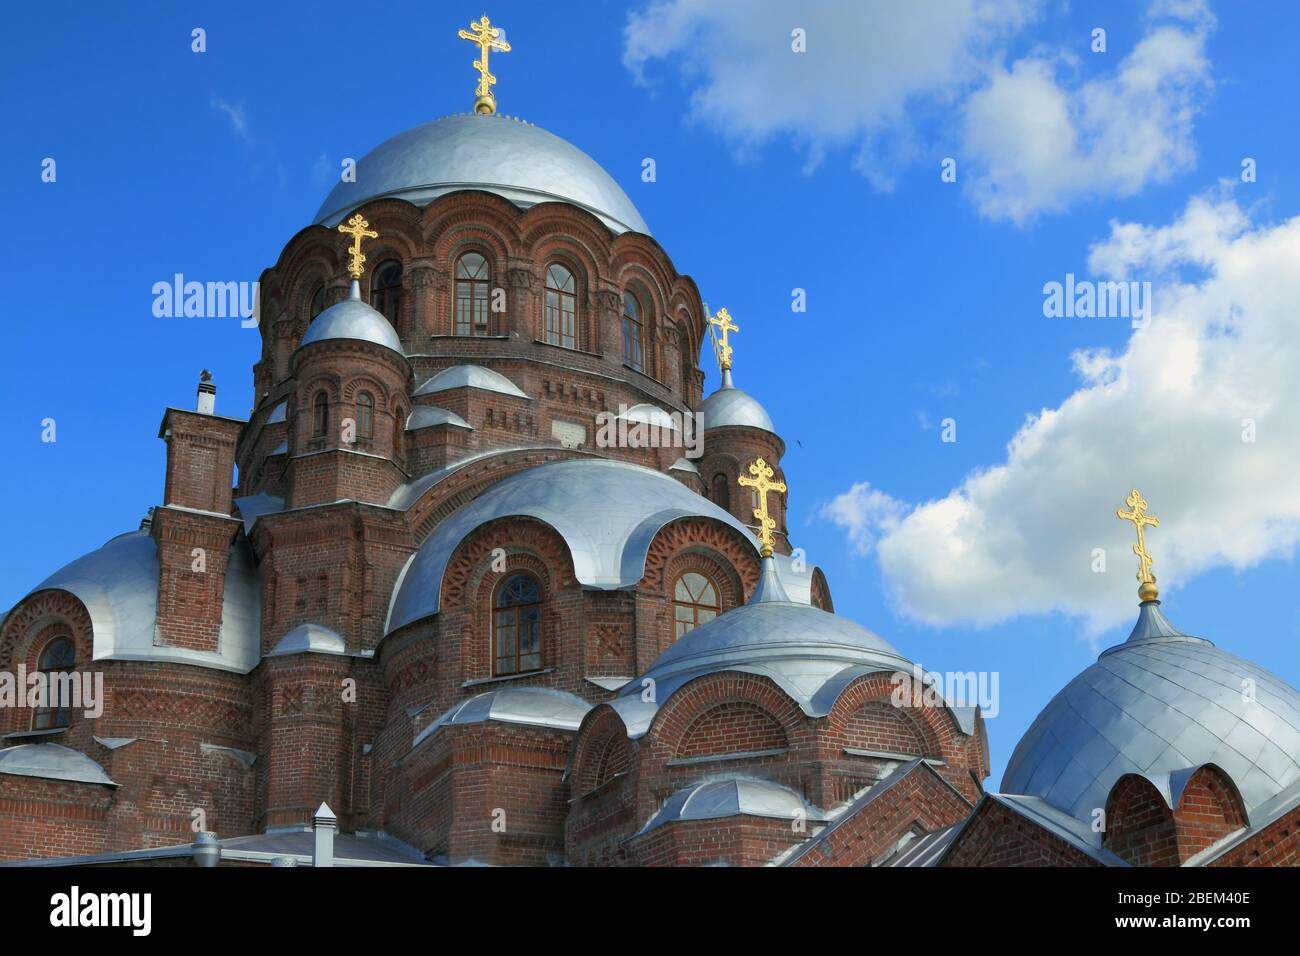
[[[1087,72],[1110,55],[1037,55],[991,72],[966,101],[962,134],[966,186],[983,215],[1023,224],[1080,198],[1134,195],[1195,165],[1213,20],[1200,5],[1166,8],[1184,18],[1152,26],[1113,73],[1074,88],[1058,79],[1065,68]]]

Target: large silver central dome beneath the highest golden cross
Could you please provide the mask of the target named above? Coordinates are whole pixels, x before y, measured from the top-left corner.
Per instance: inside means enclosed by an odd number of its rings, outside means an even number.
[[[482,113],[446,116],[381,143],[358,163],[356,182],[334,186],[316,222],[333,226],[372,199],[426,206],[463,189],[523,207],[571,203],[615,233],[650,233],[619,183],[576,146],[523,120]]]

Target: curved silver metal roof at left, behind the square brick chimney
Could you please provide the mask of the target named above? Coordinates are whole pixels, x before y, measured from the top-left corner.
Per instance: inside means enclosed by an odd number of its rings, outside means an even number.
[[[170,661],[247,674],[261,654],[261,583],[247,544],[230,548],[217,650],[160,646],[157,545],[147,531],[131,531],[55,571],[29,593],[58,589],[75,596],[90,614],[96,661]]]

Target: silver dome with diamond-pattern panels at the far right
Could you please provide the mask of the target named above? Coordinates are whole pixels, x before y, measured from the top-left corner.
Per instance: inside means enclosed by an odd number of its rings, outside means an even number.
[[[1183,771],[1205,763],[1232,778],[1248,814],[1295,784],[1300,693],[1179,632],[1148,602],[1130,639],[1102,652],[1039,714],[1011,754],[1002,791],[1084,819],[1124,774],[1145,777],[1176,805]]]

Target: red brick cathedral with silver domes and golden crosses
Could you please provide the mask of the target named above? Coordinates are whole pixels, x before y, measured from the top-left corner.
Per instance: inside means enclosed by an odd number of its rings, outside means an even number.
[[[139,527],[0,618],[4,865],[1300,864],[1300,693],[1165,617],[1136,490],[1132,633],[989,790],[790,541],[744,316],[460,36],[472,112],[261,274],[248,416],[200,376]]]

